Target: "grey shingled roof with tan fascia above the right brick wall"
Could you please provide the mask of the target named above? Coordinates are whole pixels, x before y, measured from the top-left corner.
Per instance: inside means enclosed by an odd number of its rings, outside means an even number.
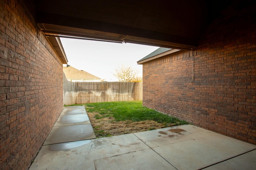
[[[157,59],[159,57],[163,57],[163,56],[171,54],[171,53],[175,53],[177,51],[180,51],[180,50],[179,49],[169,49],[169,48],[160,47],[159,49],[156,49],[155,51],[153,51],[152,53],[150,53],[149,55],[147,55],[143,59],[140,59],[139,61],[137,61],[137,63],[142,64],[142,63],[145,63],[147,61],[154,60],[154,59]]]

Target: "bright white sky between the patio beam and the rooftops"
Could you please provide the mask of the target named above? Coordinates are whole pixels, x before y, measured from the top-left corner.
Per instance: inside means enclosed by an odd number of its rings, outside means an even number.
[[[122,65],[139,70],[139,76],[142,76],[142,65],[138,65],[137,61],[159,48],[132,43],[109,43],[70,38],[60,38],[60,40],[70,66],[106,81],[117,81],[113,73]]]

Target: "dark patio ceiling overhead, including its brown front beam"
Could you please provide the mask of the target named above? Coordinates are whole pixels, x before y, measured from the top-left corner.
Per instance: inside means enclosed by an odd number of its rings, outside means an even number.
[[[35,0],[49,36],[191,49],[230,0]]]

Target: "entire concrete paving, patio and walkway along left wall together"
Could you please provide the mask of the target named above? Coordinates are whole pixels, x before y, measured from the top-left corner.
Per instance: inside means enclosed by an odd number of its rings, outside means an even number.
[[[70,123],[90,125],[87,118],[79,115],[74,118],[80,121],[77,123],[70,116],[63,116],[86,114],[78,109],[84,108],[64,107],[30,170],[256,169],[256,145],[193,125],[92,139],[95,136],[88,133],[91,130],[87,131],[86,127],[70,127],[74,126]],[[56,127],[65,130],[59,135]],[[73,142],[62,143],[64,139]]]

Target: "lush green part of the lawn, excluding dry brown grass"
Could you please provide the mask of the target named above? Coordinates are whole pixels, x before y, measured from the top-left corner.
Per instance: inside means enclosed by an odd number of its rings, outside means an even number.
[[[174,124],[174,125],[184,125],[189,124],[186,121],[182,121],[175,117],[170,117],[142,106],[142,101],[125,101],[125,102],[100,102],[100,103],[90,103],[83,104],[86,107],[87,112],[97,112],[96,119],[103,117],[114,117],[115,121],[126,121],[131,120],[145,121],[153,120],[158,123]]]

